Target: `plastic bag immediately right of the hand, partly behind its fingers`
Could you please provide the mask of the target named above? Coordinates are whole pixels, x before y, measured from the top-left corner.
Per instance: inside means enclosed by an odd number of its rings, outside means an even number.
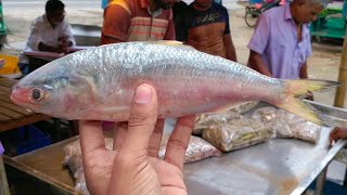
[[[166,152],[166,145],[163,145],[158,153],[159,158],[162,159],[164,158],[165,152]],[[184,164],[202,160],[204,158],[211,157],[211,156],[220,156],[220,155],[221,155],[221,152],[218,148],[210,145],[205,140],[192,135],[189,142],[188,148],[185,151]]]

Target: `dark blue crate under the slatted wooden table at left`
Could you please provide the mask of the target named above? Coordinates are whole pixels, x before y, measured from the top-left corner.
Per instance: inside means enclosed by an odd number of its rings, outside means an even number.
[[[21,155],[30,151],[52,144],[51,135],[42,132],[35,126],[18,128],[18,142],[16,154]]]

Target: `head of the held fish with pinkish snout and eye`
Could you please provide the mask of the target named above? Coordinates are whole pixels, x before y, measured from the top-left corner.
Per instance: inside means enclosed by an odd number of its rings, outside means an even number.
[[[11,100],[37,113],[78,119],[92,105],[91,89],[88,79],[76,73],[34,72],[13,87]]]

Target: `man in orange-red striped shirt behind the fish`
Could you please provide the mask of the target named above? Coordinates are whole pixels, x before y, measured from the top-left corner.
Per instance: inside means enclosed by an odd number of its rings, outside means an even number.
[[[101,43],[175,40],[171,5],[175,0],[111,0]]]

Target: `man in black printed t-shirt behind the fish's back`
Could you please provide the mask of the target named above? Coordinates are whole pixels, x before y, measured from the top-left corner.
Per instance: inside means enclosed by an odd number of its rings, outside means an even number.
[[[177,40],[236,62],[228,10],[213,0],[194,0],[177,18]]]

